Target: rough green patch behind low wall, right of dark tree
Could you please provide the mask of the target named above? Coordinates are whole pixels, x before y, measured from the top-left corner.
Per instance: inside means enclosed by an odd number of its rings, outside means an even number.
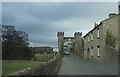
[[[54,58],[54,54],[50,54],[50,55],[35,54],[35,60],[41,61],[41,62],[48,62],[53,58]]]

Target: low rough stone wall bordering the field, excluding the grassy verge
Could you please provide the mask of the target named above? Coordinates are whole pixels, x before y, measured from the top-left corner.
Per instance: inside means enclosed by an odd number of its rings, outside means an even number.
[[[40,64],[31,68],[23,69],[22,71],[17,71],[12,74],[7,74],[2,77],[11,77],[12,75],[17,75],[18,77],[21,75],[51,75],[51,69],[55,68],[55,65],[61,59],[56,56],[52,60],[46,62],[45,64]]]

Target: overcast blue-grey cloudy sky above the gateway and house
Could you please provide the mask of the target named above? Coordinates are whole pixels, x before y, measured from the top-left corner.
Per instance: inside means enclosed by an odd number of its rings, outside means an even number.
[[[57,46],[58,31],[66,37],[75,32],[84,36],[94,22],[118,13],[117,6],[113,2],[4,2],[2,24],[27,32],[31,46]]]

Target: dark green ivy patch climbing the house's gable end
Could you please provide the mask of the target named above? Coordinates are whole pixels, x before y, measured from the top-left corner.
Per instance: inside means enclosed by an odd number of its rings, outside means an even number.
[[[116,37],[112,33],[112,31],[107,31],[107,35],[106,35],[106,38],[105,38],[105,44],[108,45],[108,46],[111,46],[111,47],[115,48]]]

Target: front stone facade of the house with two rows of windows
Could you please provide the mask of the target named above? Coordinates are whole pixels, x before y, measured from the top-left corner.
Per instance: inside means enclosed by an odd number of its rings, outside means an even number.
[[[98,29],[100,37],[98,37]],[[99,26],[84,37],[84,58],[90,60],[100,60],[104,52],[103,29]],[[92,39],[91,39],[92,35]],[[100,46],[100,56],[98,55],[98,46]]]

